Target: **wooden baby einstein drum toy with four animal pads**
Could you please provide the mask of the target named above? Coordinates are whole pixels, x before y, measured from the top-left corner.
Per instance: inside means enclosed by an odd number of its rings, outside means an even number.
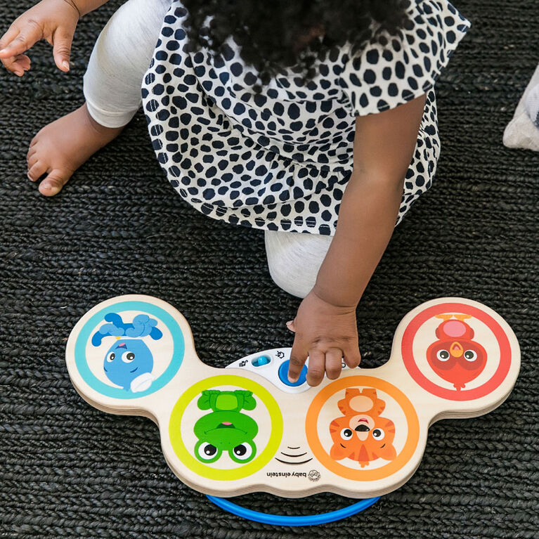
[[[197,358],[185,318],[160,299],[115,297],[71,332],[74,387],[109,413],[150,417],[164,457],[197,491],[229,497],[324,491],[370,498],[393,491],[420,464],[429,426],[490,412],[520,367],[517,338],[487,306],[427,301],[399,323],[387,363],[343,365],[318,387],[287,379],[289,348],[227,368]]]

